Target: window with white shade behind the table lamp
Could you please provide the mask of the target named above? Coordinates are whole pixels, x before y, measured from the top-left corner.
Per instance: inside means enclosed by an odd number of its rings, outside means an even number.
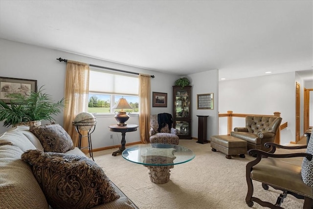
[[[138,77],[107,71],[90,70],[89,72],[89,113],[114,114],[111,107],[124,97],[138,113]]]

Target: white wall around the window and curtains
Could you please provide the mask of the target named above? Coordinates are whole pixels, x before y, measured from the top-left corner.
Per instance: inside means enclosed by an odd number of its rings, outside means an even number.
[[[166,108],[152,108],[151,112],[152,114],[173,112],[172,86],[179,76],[120,65],[59,50],[0,39],[0,76],[37,80],[38,87],[45,85],[45,92],[51,94],[54,100],[59,100],[64,97],[66,72],[66,63],[60,63],[56,60],[59,57],[120,70],[155,75],[155,78],[151,78],[151,93],[168,93],[168,105]],[[131,115],[130,117],[128,123],[139,123],[138,115]],[[60,125],[63,125],[63,114],[54,118]],[[108,128],[108,125],[116,123],[114,117],[97,115],[96,118],[98,122],[94,133],[92,133],[93,148],[120,144],[121,135],[110,132]],[[9,129],[2,125],[3,123],[0,122],[0,133]],[[113,141],[110,140],[110,134],[113,134]],[[139,130],[126,134],[126,143],[136,141],[140,141]]]

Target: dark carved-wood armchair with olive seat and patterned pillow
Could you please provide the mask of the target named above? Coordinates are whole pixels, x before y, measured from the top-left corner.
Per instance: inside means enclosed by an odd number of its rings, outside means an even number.
[[[308,146],[282,146],[272,142],[266,143],[265,146],[271,150],[269,152],[257,149],[248,151],[249,155],[257,157],[246,164],[248,186],[246,204],[252,207],[253,202],[256,202],[263,207],[282,209],[280,206],[284,198],[291,194],[298,199],[304,199],[303,209],[313,209],[313,139],[310,139]],[[274,154],[276,147],[281,148],[280,150],[288,149],[284,152],[288,154]],[[303,148],[307,148],[306,153],[295,153],[296,149]],[[262,187],[266,190],[271,186],[283,192],[275,204],[262,201],[253,196],[252,180],[262,182]]]

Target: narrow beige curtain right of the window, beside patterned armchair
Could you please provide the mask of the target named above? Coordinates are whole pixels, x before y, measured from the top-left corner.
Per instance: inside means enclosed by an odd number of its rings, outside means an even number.
[[[139,74],[139,130],[142,143],[150,143],[151,76]]]

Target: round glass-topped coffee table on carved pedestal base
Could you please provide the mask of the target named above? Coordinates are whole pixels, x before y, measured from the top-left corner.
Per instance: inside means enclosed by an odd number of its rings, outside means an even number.
[[[123,158],[142,164],[149,169],[151,182],[165,184],[170,180],[170,169],[195,158],[195,153],[184,146],[175,144],[141,144],[125,149]]]

